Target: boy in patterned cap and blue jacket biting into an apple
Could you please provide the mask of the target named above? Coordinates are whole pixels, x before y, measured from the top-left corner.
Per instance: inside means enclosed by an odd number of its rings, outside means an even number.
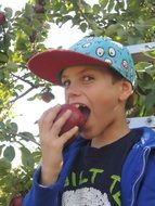
[[[85,106],[87,123],[60,136],[72,115],[54,121],[61,105],[39,120],[41,167],[23,206],[154,206],[155,133],[130,130],[126,104],[135,72],[128,50],[103,37],[85,37],[69,50],[48,50],[28,62],[39,77],[64,87],[67,104]],[[66,142],[77,136],[73,143]]]

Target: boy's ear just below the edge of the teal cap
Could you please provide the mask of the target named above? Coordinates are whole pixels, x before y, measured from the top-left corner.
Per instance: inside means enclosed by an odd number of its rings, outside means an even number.
[[[133,89],[132,89],[131,83],[126,79],[121,79],[119,100],[126,101],[132,93],[133,93]]]

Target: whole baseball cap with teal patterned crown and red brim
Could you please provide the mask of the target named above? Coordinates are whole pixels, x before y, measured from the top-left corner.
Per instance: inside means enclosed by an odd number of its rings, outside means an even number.
[[[127,47],[108,37],[87,36],[69,49],[49,49],[35,54],[28,68],[54,85],[61,85],[60,75],[69,66],[94,65],[115,69],[134,87],[135,70]]]

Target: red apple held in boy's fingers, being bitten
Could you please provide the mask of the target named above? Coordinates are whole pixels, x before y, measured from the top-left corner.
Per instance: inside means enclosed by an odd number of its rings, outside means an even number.
[[[67,110],[72,111],[72,115],[66,120],[65,125],[63,126],[60,136],[68,130],[70,130],[73,127],[78,126],[79,130],[82,129],[83,125],[87,121],[88,113],[82,113],[76,105],[74,104],[63,104],[60,113],[57,114],[56,118],[57,120]]]

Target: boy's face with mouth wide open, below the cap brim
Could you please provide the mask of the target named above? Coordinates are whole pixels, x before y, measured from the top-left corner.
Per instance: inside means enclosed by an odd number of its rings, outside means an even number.
[[[81,103],[90,110],[82,131],[85,138],[102,137],[105,129],[116,125],[122,117],[122,83],[121,80],[114,83],[107,69],[95,66],[68,67],[62,73],[61,80],[66,103]]]

